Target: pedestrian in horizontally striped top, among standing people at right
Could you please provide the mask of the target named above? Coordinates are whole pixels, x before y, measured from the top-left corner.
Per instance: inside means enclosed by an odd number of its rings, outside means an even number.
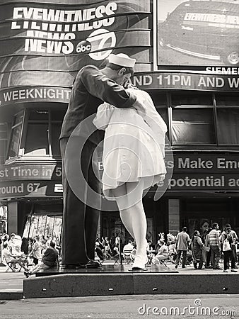
[[[221,269],[219,267],[219,261],[221,258],[221,244],[218,235],[219,225],[218,223],[212,224],[212,230],[209,233],[209,245],[211,250],[211,264],[213,269]]]

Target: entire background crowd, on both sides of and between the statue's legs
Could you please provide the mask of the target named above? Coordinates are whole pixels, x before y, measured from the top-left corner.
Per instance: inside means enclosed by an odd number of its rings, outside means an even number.
[[[54,238],[35,235],[34,238],[21,238],[12,233],[0,235],[1,257],[13,269],[19,266],[25,270],[25,276],[35,274],[40,269],[59,266],[60,247],[57,247]],[[129,240],[122,246],[118,235],[116,237],[97,237],[95,242],[95,257],[101,262],[105,259],[120,258],[125,262],[134,262],[136,243]],[[223,272],[238,272],[239,250],[238,235],[226,224],[223,232],[218,223],[208,225],[204,230],[194,230],[192,237],[187,233],[187,227],[176,236],[168,233],[158,234],[158,242],[153,245],[152,240],[147,241],[148,264],[162,264],[165,261],[175,264],[175,268],[185,268],[193,265],[194,269],[222,269],[219,265],[223,260]],[[125,259],[125,260],[124,260]],[[32,265],[32,267],[30,267]]]

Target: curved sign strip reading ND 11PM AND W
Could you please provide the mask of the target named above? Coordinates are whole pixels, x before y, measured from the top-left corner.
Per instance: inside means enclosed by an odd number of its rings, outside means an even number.
[[[139,89],[238,91],[239,76],[183,72],[145,72],[144,74],[135,74],[132,83]]]

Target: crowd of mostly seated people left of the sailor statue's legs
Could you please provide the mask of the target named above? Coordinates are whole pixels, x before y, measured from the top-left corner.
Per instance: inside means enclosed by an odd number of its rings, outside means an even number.
[[[15,271],[18,267],[25,270],[26,277],[40,269],[59,267],[59,247],[54,238],[35,235],[34,238],[21,238],[15,233],[2,234],[1,259]],[[30,267],[32,265],[32,267]]]

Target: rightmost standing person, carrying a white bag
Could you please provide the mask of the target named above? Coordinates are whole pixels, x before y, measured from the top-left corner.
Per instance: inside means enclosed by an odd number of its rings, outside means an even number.
[[[231,234],[231,228],[225,228],[221,234],[221,241],[223,242],[223,255],[224,255],[224,270],[228,272],[229,260],[231,259],[231,272],[238,272],[235,269],[235,257],[232,250],[233,235]]]

